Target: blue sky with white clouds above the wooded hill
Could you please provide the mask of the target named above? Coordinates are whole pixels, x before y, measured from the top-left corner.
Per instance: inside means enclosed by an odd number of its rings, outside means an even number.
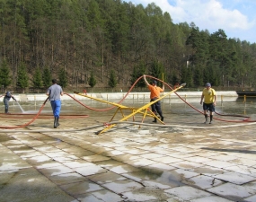
[[[171,14],[172,22],[194,22],[210,33],[222,29],[227,38],[256,43],[256,0],[124,0],[133,4],[155,3]]]

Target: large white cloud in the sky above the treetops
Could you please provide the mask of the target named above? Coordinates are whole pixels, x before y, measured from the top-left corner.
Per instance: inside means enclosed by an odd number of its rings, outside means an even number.
[[[146,6],[154,0],[133,1]],[[163,12],[171,14],[174,23],[195,22],[201,30],[248,30],[255,25],[255,21],[249,22],[240,11],[225,9],[217,0],[176,0],[175,6],[169,4],[167,0],[155,0],[154,2],[161,7]]]

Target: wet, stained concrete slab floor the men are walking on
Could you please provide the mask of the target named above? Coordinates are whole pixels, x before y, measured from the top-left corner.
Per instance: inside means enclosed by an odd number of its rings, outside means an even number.
[[[140,107],[146,103],[123,104]],[[201,110],[199,103],[192,104]],[[40,103],[21,102],[21,106],[33,113]],[[52,118],[36,119],[28,127],[1,129],[0,201],[256,201],[254,123],[215,116],[226,121],[203,124],[203,115],[184,103],[162,106],[165,127],[146,117],[146,126],[124,121],[97,135],[115,110],[88,110],[64,101],[63,116],[89,117],[60,119],[56,129]],[[21,112],[18,106],[11,106],[10,111]],[[42,114],[50,111],[47,103]],[[216,111],[252,119],[256,114],[254,100],[219,103]],[[1,126],[30,121],[25,116],[3,116]],[[118,113],[113,120],[121,118]],[[136,115],[135,120],[141,122],[142,116]]]

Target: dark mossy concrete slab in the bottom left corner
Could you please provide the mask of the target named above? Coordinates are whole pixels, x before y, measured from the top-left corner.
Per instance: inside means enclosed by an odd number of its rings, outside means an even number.
[[[9,172],[8,176],[0,189],[0,201],[75,201],[33,168]]]

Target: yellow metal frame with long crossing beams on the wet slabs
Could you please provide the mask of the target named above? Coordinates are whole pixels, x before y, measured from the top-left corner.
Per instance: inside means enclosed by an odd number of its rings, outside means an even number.
[[[172,90],[172,92],[178,91],[179,89],[181,89],[181,88],[184,87],[185,85],[186,85],[186,83],[181,84],[180,87],[178,87],[178,88]],[[133,120],[134,120],[134,115],[136,115],[137,113],[141,113],[141,114],[143,114],[142,123],[143,123],[144,119],[146,118],[146,116],[150,116],[150,117],[154,117],[155,119],[158,119],[162,124],[164,124],[163,121],[161,121],[161,119],[159,119],[159,118],[154,114],[154,112],[149,109],[149,107],[150,107],[152,104],[154,104],[155,102],[161,101],[163,98],[165,98],[166,96],[170,95],[172,92],[168,92],[168,93],[166,93],[165,95],[163,95],[162,97],[158,98],[157,100],[151,101],[151,102],[147,103],[146,105],[144,105],[143,107],[138,108],[138,109],[137,109],[137,108],[132,108],[132,107],[127,107],[127,106],[124,106],[124,105],[121,105],[121,104],[118,104],[118,103],[115,103],[115,102],[103,101],[103,100],[101,100],[101,99],[97,99],[97,98],[93,98],[93,97],[91,97],[91,96],[88,96],[88,95],[86,95],[86,94],[84,94],[84,93],[80,93],[80,92],[74,92],[74,93],[75,93],[75,94],[78,94],[78,95],[80,95],[80,96],[84,96],[84,97],[86,97],[86,98],[93,99],[93,100],[95,100],[95,101],[102,101],[102,102],[105,102],[105,103],[108,103],[108,104],[110,104],[110,105],[113,105],[113,106],[118,107],[118,109],[115,111],[115,113],[114,113],[113,117],[110,119],[110,121],[112,121],[112,120],[114,119],[114,117],[116,116],[117,112],[120,111],[120,113],[122,114],[122,117],[123,117],[123,118],[120,119],[119,121],[124,121],[124,120],[127,120],[127,119],[131,118],[131,117],[133,117]],[[125,117],[125,115],[124,115],[124,113],[123,113],[122,110],[131,110],[132,113]],[[145,111],[142,112],[142,110],[145,110]],[[148,112],[149,112],[149,113],[148,113]],[[99,133],[99,135],[102,134],[103,132],[105,132],[106,130],[110,129],[111,127],[114,127],[114,126],[116,126],[116,124],[111,124],[111,125],[105,127],[104,129],[102,129],[102,131]]]

